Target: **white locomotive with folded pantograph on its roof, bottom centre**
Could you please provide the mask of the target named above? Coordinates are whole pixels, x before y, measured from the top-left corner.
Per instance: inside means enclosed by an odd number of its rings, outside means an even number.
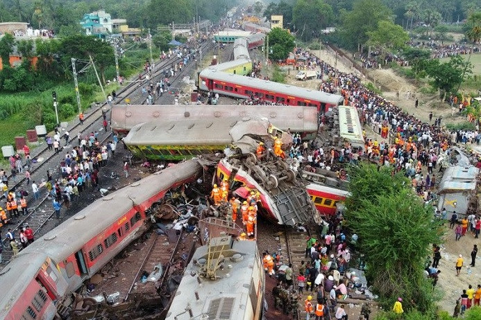
[[[212,238],[187,265],[165,319],[258,320],[264,287],[255,241]]]

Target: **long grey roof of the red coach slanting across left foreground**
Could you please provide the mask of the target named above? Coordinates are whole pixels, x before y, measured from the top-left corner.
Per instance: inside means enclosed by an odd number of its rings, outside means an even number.
[[[142,203],[157,195],[159,190],[166,189],[191,175],[195,176],[200,170],[201,165],[196,160],[185,161],[97,199],[28,245],[26,249],[20,251],[19,256],[32,252],[44,253],[56,263],[60,263],[63,258],[81,249],[108,226],[119,221],[134,206],[149,208],[150,204]]]

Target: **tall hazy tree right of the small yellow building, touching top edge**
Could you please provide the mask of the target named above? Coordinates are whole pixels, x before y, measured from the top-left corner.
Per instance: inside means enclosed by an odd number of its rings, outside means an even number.
[[[319,36],[320,30],[329,26],[333,18],[332,7],[323,0],[298,0],[292,12],[292,23],[305,41]]]

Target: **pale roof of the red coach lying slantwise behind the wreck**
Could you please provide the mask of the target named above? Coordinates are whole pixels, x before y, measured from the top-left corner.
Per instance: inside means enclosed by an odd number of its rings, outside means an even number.
[[[302,87],[296,87],[292,85],[284,85],[278,82],[272,82],[269,80],[262,80],[258,78],[246,77],[244,75],[235,75],[233,73],[225,73],[221,71],[204,69],[201,72],[201,77],[209,78],[217,81],[235,82],[237,85],[246,85],[255,87],[266,91],[280,92],[287,96],[297,96],[306,100],[323,100],[323,102],[330,105],[339,105],[344,100],[342,96],[337,94],[328,94],[324,91],[310,90]]]

